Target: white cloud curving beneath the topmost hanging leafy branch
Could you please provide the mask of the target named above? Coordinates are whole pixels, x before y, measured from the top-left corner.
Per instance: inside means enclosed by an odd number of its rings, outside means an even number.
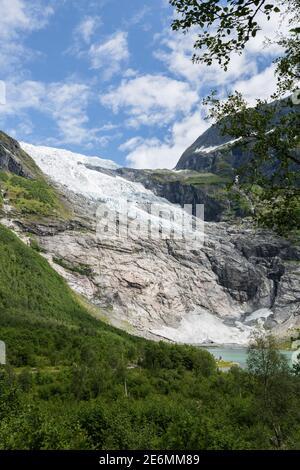
[[[284,5],[281,6],[284,10]],[[166,65],[170,73],[185,79],[198,89],[204,87],[230,89],[234,81],[247,80],[256,75],[259,61],[264,59],[270,61],[280,54],[281,49],[276,41],[280,34],[287,33],[290,18],[291,14],[283,11],[281,14],[273,14],[268,21],[266,16],[260,13],[257,19],[261,31],[255,38],[251,38],[241,55],[232,54],[226,72],[217,63],[209,67],[201,63],[192,63],[191,58],[195,52],[193,45],[199,28],[191,28],[187,34],[166,28],[161,34],[156,35],[155,41],[158,47],[153,54]]]

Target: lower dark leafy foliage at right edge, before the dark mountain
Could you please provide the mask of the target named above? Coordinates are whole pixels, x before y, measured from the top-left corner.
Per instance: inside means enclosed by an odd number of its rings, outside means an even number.
[[[250,149],[247,162],[236,171],[258,224],[282,235],[299,229],[300,106],[285,98],[271,104],[257,100],[249,108],[237,92],[225,102],[212,94],[205,103],[221,132]]]

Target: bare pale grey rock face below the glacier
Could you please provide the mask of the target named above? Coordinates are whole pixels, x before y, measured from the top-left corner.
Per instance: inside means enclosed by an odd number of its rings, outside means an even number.
[[[97,236],[97,204],[71,192],[68,198],[76,207],[76,223],[51,232],[30,223],[22,232],[35,233],[70,286],[113,324],[143,336],[186,341],[180,328],[192,315],[196,323],[189,342],[217,342],[222,332],[221,342],[237,344],[249,339],[247,319],[256,311],[267,309],[261,321],[280,334],[300,326],[300,251],[285,240],[225,223],[205,224],[205,242],[198,249],[184,241],[110,240]],[[69,269],[55,260],[64,260]],[[77,272],[82,265],[88,274]],[[212,321],[219,323],[211,328]]]

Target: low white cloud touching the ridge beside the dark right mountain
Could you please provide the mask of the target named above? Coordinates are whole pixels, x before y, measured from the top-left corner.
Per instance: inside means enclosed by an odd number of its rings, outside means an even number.
[[[164,141],[135,137],[125,142],[120,149],[129,151],[126,160],[134,168],[174,168],[181,154],[208,127],[201,110],[176,122],[171,135]]]

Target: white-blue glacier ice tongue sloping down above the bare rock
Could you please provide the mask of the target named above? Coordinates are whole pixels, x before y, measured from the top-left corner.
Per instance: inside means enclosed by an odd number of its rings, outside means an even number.
[[[25,142],[20,142],[20,146],[53,182],[68,190],[94,201],[104,202],[111,211],[126,211],[129,218],[139,219],[144,224],[150,221],[153,232],[159,229],[163,219],[166,235],[173,231],[181,236],[184,224],[185,234],[190,235],[192,240],[195,237],[199,241],[203,239],[202,234],[195,234],[192,228],[195,218],[182,211],[179,206],[156,196],[141,183],[128,181],[115,175],[113,171],[106,172],[105,170],[119,168],[112,160]],[[152,204],[152,212],[149,204]],[[200,221],[197,223],[203,230],[203,224]]]

